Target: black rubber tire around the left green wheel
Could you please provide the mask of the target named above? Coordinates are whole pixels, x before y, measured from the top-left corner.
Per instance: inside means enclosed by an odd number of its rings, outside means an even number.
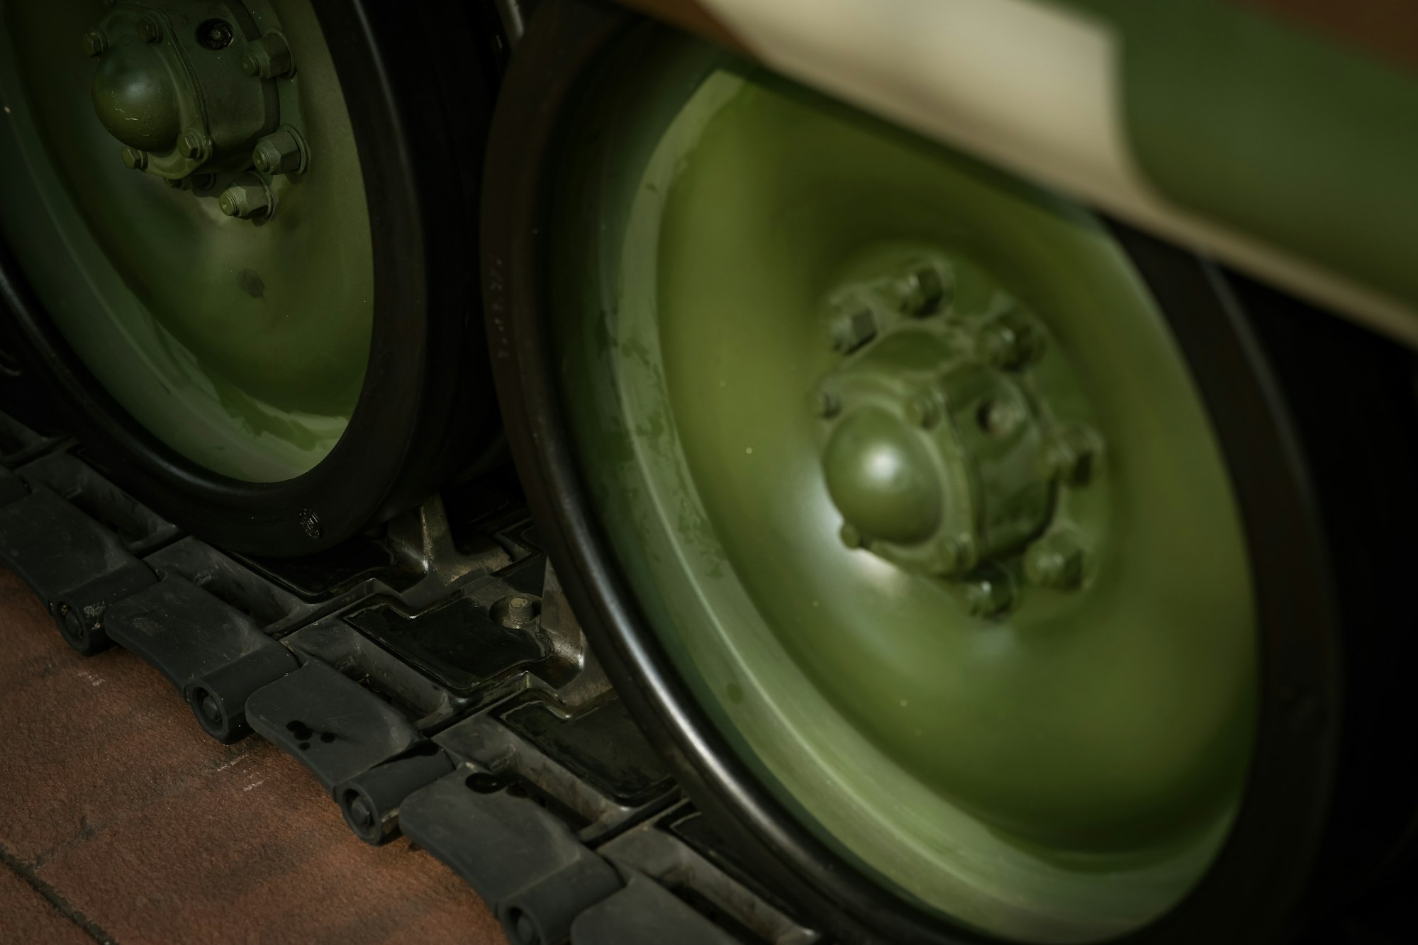
[[[486,11],[313,0],[349,105],[373,230],[370,368],[330,454],[284,482],[242,482],[177,455],[98,385],[9,253],[0,297],[17,355],[62,392],[64,426],[106,474],[197,535],[303,555],[421,501],[495,436],[476,272],[478,196],[496,84]]]

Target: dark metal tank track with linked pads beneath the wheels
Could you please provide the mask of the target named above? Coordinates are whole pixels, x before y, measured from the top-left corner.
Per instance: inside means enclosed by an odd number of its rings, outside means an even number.
[[[475,480],[330,552],[184,534],[0,414],[0,563],[79,648],[160,670],[223,742],[299,761],[515,945],[808,945],[675,785],[587,648],[515,487]]]

